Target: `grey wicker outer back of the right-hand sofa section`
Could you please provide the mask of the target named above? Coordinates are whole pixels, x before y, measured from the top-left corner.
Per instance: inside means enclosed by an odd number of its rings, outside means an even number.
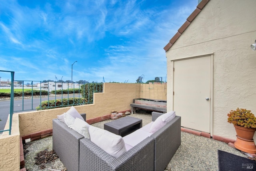
[[[163,171],[180,147],[180,124],[181,117],[176,116],[151,135],[155,139],[155,171]]]

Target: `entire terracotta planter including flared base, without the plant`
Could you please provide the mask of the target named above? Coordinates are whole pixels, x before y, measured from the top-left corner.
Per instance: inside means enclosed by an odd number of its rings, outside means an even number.
[[[256,153],[256,147],[254,143],[254,132],[256,129],[254,128],[246,128],[241,127],[238,125],[234,125],[236,129],[236,142],[234,143],[234,146],[236,149],[239,149],[241,151],[244,151],[246,153]]]

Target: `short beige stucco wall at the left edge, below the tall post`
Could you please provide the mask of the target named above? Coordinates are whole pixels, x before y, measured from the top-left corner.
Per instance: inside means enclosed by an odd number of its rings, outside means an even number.
[[[9,118],[6,129],[9,129]],[[19,171],[20,170],[20,131],[18,114],[12,116],[12,134],[5,131],[0,135],[0,170]]]

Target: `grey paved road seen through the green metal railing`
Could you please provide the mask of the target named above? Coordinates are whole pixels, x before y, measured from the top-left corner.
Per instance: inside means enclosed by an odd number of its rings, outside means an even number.
[[[69,97],[73,97],[73,95],[69,95]],[[78,95],[75,95],[75,97],[78,97]],[[80,95],[80,97],[82,97]],[[68,98],[68,96],[62,96],[62,98]],[[49,100],[53,100],[55,97],[49,97]],[[61,96],[56,96],[56,99],[61,99]],[[43,97],[41,101],[48,100],[48,97]],[[23,103],[23,105],[22,105]],[[23,110],[26,111],[34,111],[36,110],[36,107],[40,105],[40,98],[33,98],[32,99],[15,99],[14,100],[14,113],[22,112]],[[10,113],[10,100],[3,100],[0,101],[0,131],[4,130],[6,121],[8,119],[8,115]],[[0,132],[1,133],[1,132]]]

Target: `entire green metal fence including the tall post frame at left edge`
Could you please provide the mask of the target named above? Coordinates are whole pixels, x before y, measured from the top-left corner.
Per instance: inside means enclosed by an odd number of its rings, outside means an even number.
[[[14,76],[14,72],[11,74]],[[7,99],[10,98],[10,128],[12,124],[12,114],[14,112],[91,104],[93,103],[94,93],[103,91],[102,83],[88,82],[80,83],[12,80],[11,85],[12,86],[8,87],[0,87],[0,96],[6,96]],[[10,93],[7,92],[8,90],[3,93],[1,91],[3,88],[11,89]],[[5,111],[5,113],[1,113],[1,115],[2,114],[8,115],[9,113],[8,111]],[[3,131],[0,131],[0,133]]]

